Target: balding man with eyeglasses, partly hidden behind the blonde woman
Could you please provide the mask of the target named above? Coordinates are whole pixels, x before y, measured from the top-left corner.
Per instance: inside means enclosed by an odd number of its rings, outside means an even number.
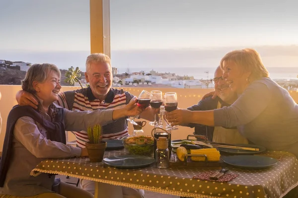
[[[202,99],[198,104],[188,107],[188,110],[206,111],[222,108],[229,106],[237,99],[236,93],[232,92],[229,84],[223,79],[223,71],[220,66],[215,70],[214,78],[211,79],[211,82],[214,83],[218,97],[216,99],[212,99],[212,97]],[[246,138],[241,136],[236,128],[226,129],[224,127],[210,127],[192,123],[189,123],[187,126],[195,127],[195,135],[207,136],[209,141],[227,144],[248,144]]]

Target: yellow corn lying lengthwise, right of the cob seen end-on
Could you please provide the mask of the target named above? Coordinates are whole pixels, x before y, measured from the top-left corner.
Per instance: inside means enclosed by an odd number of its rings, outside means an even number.
[[[203,149],[191,149],[191,154],[205,154],[207,155],[208,161],[219,161],[221,154],[216,148],[203,148]],[[204,156],[192,156],[193,161],[205,161]]]

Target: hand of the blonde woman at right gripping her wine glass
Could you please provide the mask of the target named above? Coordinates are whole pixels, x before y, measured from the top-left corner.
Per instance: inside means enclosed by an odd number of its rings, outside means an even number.
[[[192,111],[187,109],[176,109],[171,112],[166,112],[166,118],[171,122],[172,126],[186,125],[191,123]]]

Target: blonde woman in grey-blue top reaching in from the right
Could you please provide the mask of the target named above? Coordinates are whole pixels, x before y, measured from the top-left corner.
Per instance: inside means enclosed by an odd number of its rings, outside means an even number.
[[[177,109],[167,113],[169,121],[174,125],[237,126],[252,143],[298,157],[298,105],[269,78],[259,53],[254,49],[231,51],[222,58],[221,68],[238,99],[228,107],[209,111]]]

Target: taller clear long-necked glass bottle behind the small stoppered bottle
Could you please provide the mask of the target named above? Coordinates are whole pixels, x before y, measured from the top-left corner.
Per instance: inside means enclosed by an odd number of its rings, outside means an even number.
[[[171,154],[171,130],[166,129],[166,126],[169,126],[169,124],[167,123],[167,121],[165,119],[165,109],[164,109],[164,106],[160,106],[159,121],[155,127],[164,129],[167,133],[161,129],[154,130],[154,150],[156,150],[156,148],[157,148],[157,143],[156,143],[155,138],[158,139],[159,137],[165,137],[168,139],[168,149],[170,151],[169,154]],[[154,152],[154,158],[155,158],[155,152]]]

